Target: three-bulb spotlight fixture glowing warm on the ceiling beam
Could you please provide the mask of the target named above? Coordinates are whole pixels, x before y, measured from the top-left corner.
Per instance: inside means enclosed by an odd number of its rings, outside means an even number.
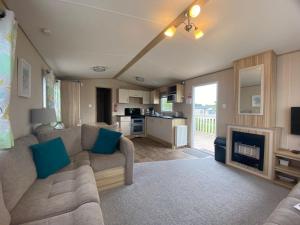
[[[183,21],[184,23],[184,29],[187,32],[191,32],[194,31],[194,37],[195,39],[199,39],[201,37],[203,37],[204,33],[202,30],[200,30],[196,24],[194,24],[191,21],[191,18],[196,18],[197,16],[200,15],[201,12],[201,7],[199,5],[193,5],[191,8],[189,8],[189,10],[186,11],[185,13],[185,21]],[[165,32],[165,36],[167,37],[173,37],[175,35],[176,32],[176,27],[174,25],[170,26]]]

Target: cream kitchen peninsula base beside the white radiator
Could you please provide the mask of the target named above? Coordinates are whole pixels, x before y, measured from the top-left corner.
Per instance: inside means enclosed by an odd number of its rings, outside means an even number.
[[[186,125],[186,119],[146,117],[146,135],[166,146],[175,148],[175,127]]]

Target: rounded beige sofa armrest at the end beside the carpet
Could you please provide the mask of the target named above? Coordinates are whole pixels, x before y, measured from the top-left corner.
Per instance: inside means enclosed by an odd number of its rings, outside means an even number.
[[[133,183],[134,144],[126,137],[120,139],[120,151],[125,155],[125,184]]]

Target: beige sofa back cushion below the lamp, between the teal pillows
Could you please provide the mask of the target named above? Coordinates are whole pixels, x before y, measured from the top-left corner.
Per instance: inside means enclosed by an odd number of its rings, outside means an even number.
[[[82,151],[81,148],[81,128],[70,127],[63,130],[54,130],[49,133],[37,134],[39,142],[46,142],[60,137],[70,156]]]

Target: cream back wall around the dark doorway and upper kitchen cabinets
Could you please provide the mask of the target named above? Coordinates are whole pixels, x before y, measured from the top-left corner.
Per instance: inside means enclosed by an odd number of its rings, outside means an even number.
[[[117,90],[118,88],[124,89],[134,89],[134,90],[148,90],[141,86],[133,85],[124,81],[114,80],[114,79],[89,79],[81,80],[81,100],[80,100],[80,110],[81,110],[81,122],[82,123],[95,123],[96,122],[96,88],[111,88],[112,89],[112,107],[117,104]],[[112,110],[113,115],[124,114],[124,108],[147,108],[150,105],[139,104],[138,102],[131,99],[131,104],[117,104],[117,112]],[[92,107],[89,108],[89,105]],[[113,117],[115,121],[116,118]]]

